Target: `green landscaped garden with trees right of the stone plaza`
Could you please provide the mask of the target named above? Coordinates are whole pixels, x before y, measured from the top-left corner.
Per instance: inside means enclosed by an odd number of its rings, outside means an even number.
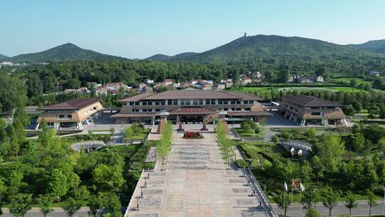
[[[313,144],[309,156],[291,156],[279,140],[301,140]],[[289,186],[294,180],[305,187],[302,196],[315,190],[317,200],[322,201],[324,192],[336,193],[339,201],[353,197],[366,200],[370,192],[375,199],[383,196],[381,185],[385,183],[385,128],[354,126],[351,131],[308,130],[280,131],[274,143],[235,143],[245,156],[235,163],[241,168],[250,167],[255,177],[270,198],[282,203],[284,182]],[[351,192],[351,194],[349,194]],[[289,195],[289,203],[299,202],[299,190]],[[306,201],[302,198],[302,202]],[[286,201],[287,202],[287,201]],[[315,201],[312,201],[314,203]]]

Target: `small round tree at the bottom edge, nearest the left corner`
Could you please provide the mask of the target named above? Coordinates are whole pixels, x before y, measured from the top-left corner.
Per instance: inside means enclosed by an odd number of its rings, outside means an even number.
[[[24,216],[32,208],[31,194],[18,193],[11,197],[9,211],[16,217]]]

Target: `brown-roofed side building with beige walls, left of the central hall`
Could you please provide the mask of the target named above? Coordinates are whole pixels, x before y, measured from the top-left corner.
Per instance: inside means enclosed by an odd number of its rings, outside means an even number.
[[[64,101],[60,104],[45,106],[37,119],[36,129],[43,118],[46,120],[48,127],[56,130],[66,129],[83,129],[83,126],[88,125],[99,116],[99,111],[102,111],[103,106],[99,99],[95,98],[76,98]]]

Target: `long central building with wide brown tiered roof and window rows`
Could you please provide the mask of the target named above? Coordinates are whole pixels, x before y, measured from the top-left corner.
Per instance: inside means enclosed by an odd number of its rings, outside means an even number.
[[[116,118],[116,123],[153,123],[158,121],[158,114],[166,111],[168,120],[182,123],[202,123],[207,116],[215,117],[217,112],[225,111],[228,121],[245,121],[253,118],[261,121],[272,113],[265,111],[259,97],[213,90],[170,90],[160,93],[139,94],[121,100],[123,103]]]

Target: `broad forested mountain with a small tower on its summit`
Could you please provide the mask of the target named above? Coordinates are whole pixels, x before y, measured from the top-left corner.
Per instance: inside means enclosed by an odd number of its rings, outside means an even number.
[[[181,58],[200,62],[295,62],[295,61],[354,61],[359,58],[385,56],[332,44],[317,39],[285,36],[244,36],[228,44],[192,56]]]

